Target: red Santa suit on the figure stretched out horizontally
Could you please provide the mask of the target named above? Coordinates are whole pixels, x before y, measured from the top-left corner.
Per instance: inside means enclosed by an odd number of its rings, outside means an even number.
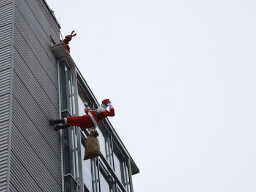
[[[104,112],[97,112],[97,110],[89,110],[87,115],[69,117],[65,118],[64,120],[65,123],[68,123],[72,126],[78,126],[89,129],[91,127],[96,128],[99,121],[103,121],[108,116],[115,116],[115,109],[113,105],[110,106],[109,111],[106,109],[104,110]]]

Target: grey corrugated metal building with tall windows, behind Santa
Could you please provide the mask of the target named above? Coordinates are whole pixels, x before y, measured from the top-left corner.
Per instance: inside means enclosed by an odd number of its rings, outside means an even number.
[[[49,124],[99,106],[59,29],[44,0],[0,2],[0,191],[134,191],[138,167],[108,119],[91,160],[88,130]]]

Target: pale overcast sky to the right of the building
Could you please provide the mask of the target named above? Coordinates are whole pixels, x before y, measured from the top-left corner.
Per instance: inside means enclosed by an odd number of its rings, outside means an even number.
[[[256,191],[256,1],[47,2],[115,106],[134,191]]]

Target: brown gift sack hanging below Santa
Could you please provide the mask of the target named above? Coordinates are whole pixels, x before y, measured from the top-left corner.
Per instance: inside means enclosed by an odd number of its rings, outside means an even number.
[[[92,130],[88,138],[85,140],[85,157],[83,160],[98,157],[101,155],[100,143],[98,140],[99,133],[97,130]]]

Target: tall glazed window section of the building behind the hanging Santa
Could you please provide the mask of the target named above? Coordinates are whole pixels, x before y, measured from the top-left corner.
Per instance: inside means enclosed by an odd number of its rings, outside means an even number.
[[[59,57],[59,59],[62,58],[64,57]],[[70,61],[65,57],[64,60],[58,62],[61,118],[85,115],[84,101],[88,102],[92,110],[98,106],[98,102],[74,63],[67,63],[67,60]],[[72,68],[69,67],[71,66],[69,64],[73,64]],[[75,73],[77,73],[77,78]],[[126,159],[126,155],[129,154],[126,154],[125,149],[122,150],[122,145],[115,143],[119,142],[119,138],[112,137],[113,130],[107,121],[100,122],[98,127],[102,156],[90,160],[83,160],[85,138],[89,135],[88,129],[80,129],[80,132],[76,132],[75,127],[69,127],[69,129],[60,131],[62,190],[64,192],[79,192],[80,190],[85,192],[132,191],[129,183],[129,179],[131,179],[130,165]],[[124,153],[122,154],[122,152]],[[81,176],[83,180],[80,180]]]

